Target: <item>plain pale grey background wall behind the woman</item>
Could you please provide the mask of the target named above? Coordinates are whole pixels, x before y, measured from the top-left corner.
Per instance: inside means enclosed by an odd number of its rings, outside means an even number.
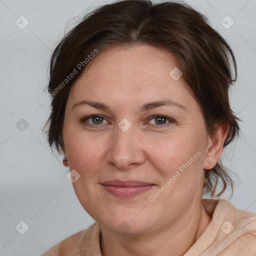
[[[222,198],[256,212],[256,1],[186,2],[209,17],[234,51],[238,79],[230,99],[243,120],[243,134],[221,158],[241,182],[231,199],[228,193]],[[103,3],[0,0],[0,256],[39,255],[94,222],[66,178],[63,156],[51,153],[41,129],[49,114],[50,101],[43,88],[55,42],[68,20]],[[29,21],[24,29],[15,24],[21,15]],[[226,15],[234,21],[229,29],[221,24]],[[225,20],[229,25],[230,20]],[[21,118],[28,124],[23,130],[16,126],[22,124]],[[23,235],[15,229],[21,220],[29,226]]]

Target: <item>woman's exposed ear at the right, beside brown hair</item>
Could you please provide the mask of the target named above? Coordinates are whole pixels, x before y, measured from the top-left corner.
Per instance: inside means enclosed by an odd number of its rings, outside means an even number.
[[[217,130],[212,139],[209,139],[207,144],[207,152],[203,162],[203,168],[206,170],[212,169],[221,156],[223,144],[228,132],[228,122],[222,120],[217,125]]]

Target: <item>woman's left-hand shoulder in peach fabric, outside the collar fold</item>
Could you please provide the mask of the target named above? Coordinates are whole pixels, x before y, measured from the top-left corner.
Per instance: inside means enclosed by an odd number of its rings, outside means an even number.
[[[97,229],[98,223],[94,222],[91,224],[88,228],[82,229],[74,234],[71,234],[70,236],[66,237],[65,239],[61,240],[54,246],[47,249],[43,254],[40,256],[76,256],[80,255],[78,254],[80,252],[80,244],[85,239],[86,235],[89,234],[92,231],[95,231]]]

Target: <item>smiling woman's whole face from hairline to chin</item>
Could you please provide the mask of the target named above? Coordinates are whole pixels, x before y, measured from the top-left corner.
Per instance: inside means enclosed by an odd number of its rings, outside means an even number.
[[[92,218],[114,232],[163,229],[200,203],[207,133],[196,100],[176,69],[170,73],[175,67],[152,46],[108,48],[70,89],[63,140],[73,188]],[[76,104],[83,100],[94,103]],[[109,180],[149,185],[103,185]]]

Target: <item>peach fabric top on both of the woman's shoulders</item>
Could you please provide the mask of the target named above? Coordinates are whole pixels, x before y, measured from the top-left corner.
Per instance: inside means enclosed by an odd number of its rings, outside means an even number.
[[[255,256],[256,213],[235,208],[226,199],[202,199],[212,220],[183,256]],[[63,239],[40,256],[102,256],[100,225],[94,222]]]

